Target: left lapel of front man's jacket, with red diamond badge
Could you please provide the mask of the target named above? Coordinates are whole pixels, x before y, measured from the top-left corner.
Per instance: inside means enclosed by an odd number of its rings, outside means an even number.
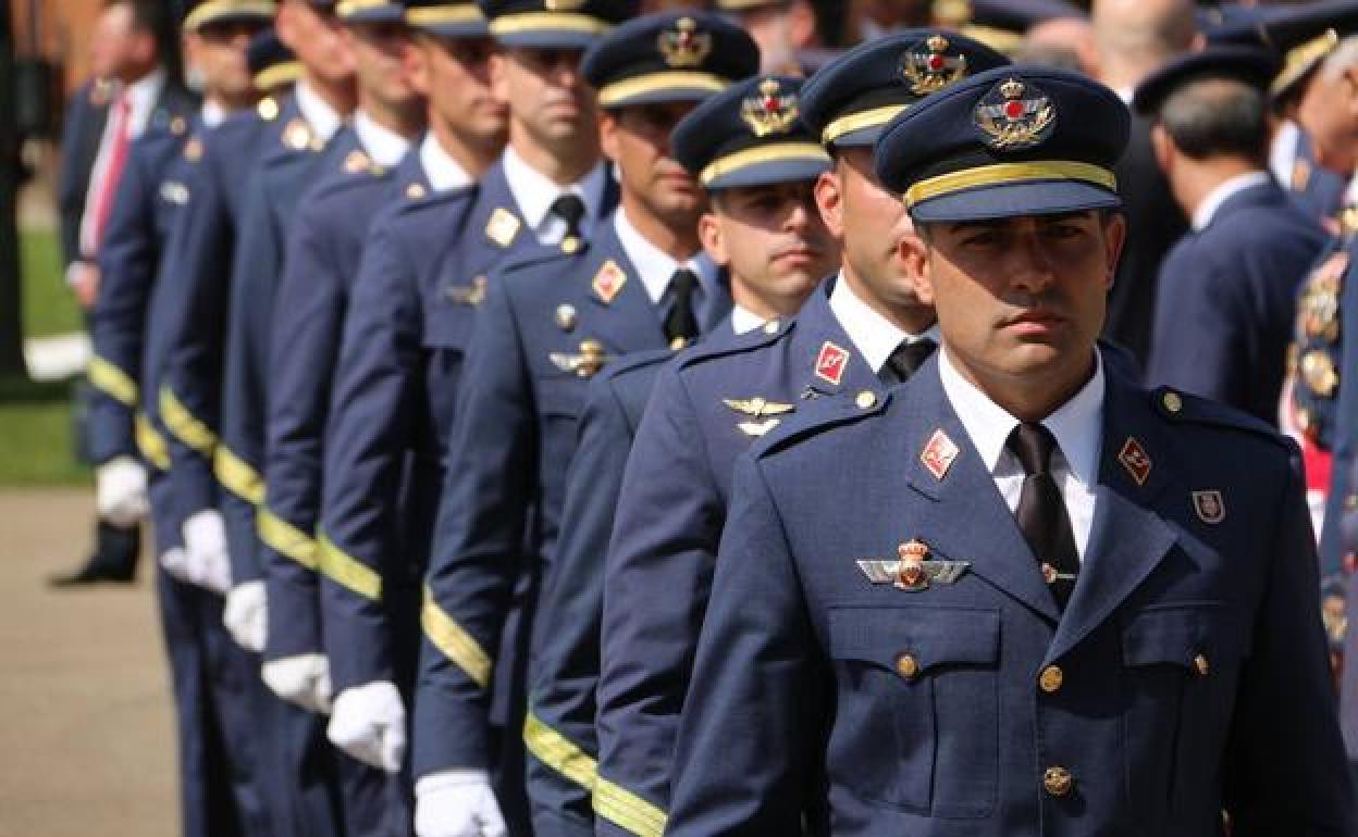
[[[918,532],[910,536],[940,558],[971,562],[978,577],[1057,623],[1057,602],[1038,560],[944,395],[937,354],[894,392],[906,399],[910,416],[898,461],[910,487],[940,506],[937,513],[918,515]]]

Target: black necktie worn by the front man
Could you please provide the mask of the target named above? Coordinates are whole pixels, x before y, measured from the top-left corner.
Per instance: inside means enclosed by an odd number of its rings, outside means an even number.
[[[1070,530],[1070,515],[1061,498],[1061,488],[1051,476],[1051,452],[1057,448],[1057,440],[1044,426],[1024,422],[1009,434],[1005,446],[1019,457],[1024,472],[1014,520],[1038,558],[1052,597],[1065,609],[1076,589],[1080,553],[1076,552],[1076,537]]]

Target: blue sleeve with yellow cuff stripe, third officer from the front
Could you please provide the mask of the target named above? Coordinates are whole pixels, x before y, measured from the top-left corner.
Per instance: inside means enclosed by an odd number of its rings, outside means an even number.
[[[721,331],[718,326],[718,332]],[[708,338],[720,339],[720,338]],[[641,415],[656,373],[674,351],[641,351],[595,376],[580,411],[580,442],[566,475],[557,556],[542,582],[528,659],[528,799],[542,837],[593,834],[595,689],[603,556]]]

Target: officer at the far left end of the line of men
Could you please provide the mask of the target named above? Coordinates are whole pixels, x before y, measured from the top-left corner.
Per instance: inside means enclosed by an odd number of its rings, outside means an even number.
[[[190,199],[187,183],[202,151],[198,134],[255,100],[244,49],[270,16],[272,9],[258,3],[200,4],[189,11],[185,46],[205,83],[202,111],[191,126],[171,121],[133,144],[99,255],[92,368],[99,380],[120,384],[120,397],[96,402],[92,427],[100,456],[114,457],[109,461],[140,449],[151,472],[156,553],[168,566],[177,566],[174,556],[182,553],[182,513],[164,473],[170,463],[153,396],[175,281],[167,241]],[[250,661],[221,627],[220,600],[213,606],[210,594],[163,567],[156,568],[156,587],[178,716],[183,830],[276,834],[238,685],[250,677]]]

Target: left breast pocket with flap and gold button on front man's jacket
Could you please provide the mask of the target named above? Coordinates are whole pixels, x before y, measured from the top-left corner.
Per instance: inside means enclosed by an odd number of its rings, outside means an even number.
[[[999,769],[999,613],[839,608],[830,612],[830,651],[839,695],[831,780],[913,813],[989,817]]]

